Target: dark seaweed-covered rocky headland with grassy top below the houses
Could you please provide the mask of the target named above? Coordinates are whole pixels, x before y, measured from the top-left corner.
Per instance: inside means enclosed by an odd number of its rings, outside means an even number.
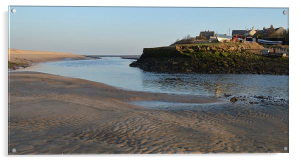
[[[246,48],[262,46],[232,42],[144,48],[130,66],[155,72],[288,74],[288,58],[267,57]]]

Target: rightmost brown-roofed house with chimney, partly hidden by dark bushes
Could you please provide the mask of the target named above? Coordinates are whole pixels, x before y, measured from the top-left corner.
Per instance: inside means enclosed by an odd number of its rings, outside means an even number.
[[[262,30],[258,30],[253,37],[279,37],[283,36],[285,31],[283,27],[274,28],[273,25],[270,25],[269,28],[263,27]]]

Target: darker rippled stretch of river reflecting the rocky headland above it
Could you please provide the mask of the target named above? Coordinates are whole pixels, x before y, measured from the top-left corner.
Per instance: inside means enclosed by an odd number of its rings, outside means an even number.
[[[288,99],[288,76],[253,74],[160,74],[142,72],[142,86],[156,91],[220,96],[270,95]]]

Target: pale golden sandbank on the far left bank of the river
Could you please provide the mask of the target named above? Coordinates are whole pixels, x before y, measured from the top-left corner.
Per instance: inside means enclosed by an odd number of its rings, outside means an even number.
[[[50,52],[8,48],[8,61],[12,62],[32,64],[36,62],[61,60],[64,58],[85,59],[87,57],[84,55],[66,52]]]

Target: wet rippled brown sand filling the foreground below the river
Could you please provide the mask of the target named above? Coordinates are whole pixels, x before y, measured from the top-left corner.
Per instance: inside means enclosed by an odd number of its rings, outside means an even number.
[[[220,100],[40,72],[8,75],[9,154],[288,152],[288,104],[208,105]],[[129,103],[143,100],[206,104],[163,110]]]

